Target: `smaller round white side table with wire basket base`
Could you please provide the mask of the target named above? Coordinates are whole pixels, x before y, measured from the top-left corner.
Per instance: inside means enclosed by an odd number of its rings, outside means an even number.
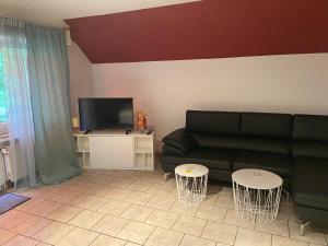
[[[199,203],[206,199],[209,169],[198,164],[184,164],[175,167],[178,199]]]

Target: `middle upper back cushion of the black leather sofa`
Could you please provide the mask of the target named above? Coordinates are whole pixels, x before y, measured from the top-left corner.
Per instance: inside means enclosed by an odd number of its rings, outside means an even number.
[[[271,113],[242,113],[241,136],[289,139],[292,115]]]

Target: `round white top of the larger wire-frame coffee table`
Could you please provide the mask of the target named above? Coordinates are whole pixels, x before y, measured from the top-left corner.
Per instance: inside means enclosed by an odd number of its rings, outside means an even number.
[[[263,169],[245,168],[232,174],[235,183],[253,189],[273,189],[282,185],[282,178]]]

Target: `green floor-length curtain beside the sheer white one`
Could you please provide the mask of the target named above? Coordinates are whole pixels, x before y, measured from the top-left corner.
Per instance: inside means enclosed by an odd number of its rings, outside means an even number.
[[[69,112],[65,32],[26,24],[27,66],[35,129],[35,163],[42,183],[80,174]]]

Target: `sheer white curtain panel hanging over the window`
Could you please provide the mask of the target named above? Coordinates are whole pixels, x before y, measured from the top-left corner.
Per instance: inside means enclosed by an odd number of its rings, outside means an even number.
[[[4,102],[15,185],[35,186],[34,125],[27,71],[25,23],[0,17]]]

